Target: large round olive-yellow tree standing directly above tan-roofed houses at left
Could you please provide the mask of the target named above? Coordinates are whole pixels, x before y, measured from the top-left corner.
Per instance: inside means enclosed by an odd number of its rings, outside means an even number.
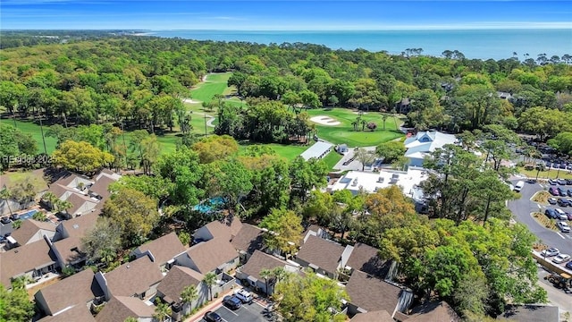
[[[103,215],[121,227],[122,242],[126,246],[144,242],[159,221],[156,201],[129,188],[117,191],[105,201]]]

